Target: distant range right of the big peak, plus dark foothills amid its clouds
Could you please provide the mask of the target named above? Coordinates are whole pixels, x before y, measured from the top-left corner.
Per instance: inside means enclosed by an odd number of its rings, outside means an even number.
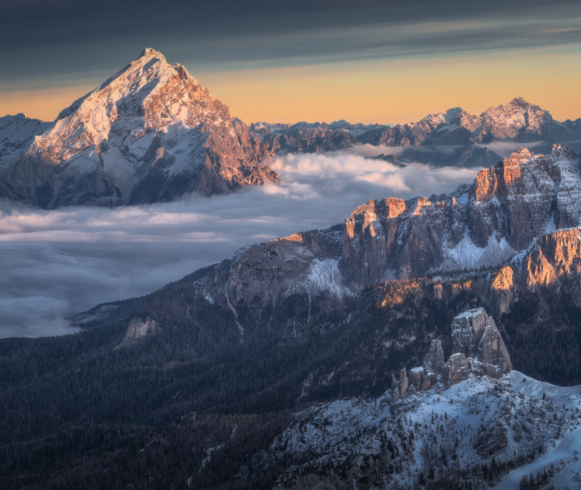
[[[335,123],[250,125],[274,153],[322,153],[357,144],[401,146],[396,161],[466,167],[492,166],[502,160],[487,148],[492,142],[535,142],[549,151],[553,142],[579,145],[581,120],[555,121],[548,111],[522,98],[489,107],[474,116],[461,107],[429,114],[417,123],[381,125]],[[385,150],[384,150],[385,151]]]

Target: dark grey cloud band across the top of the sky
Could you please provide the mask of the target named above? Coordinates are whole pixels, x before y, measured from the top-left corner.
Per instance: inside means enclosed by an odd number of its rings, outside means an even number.
[[[28,0],[28,3],[35,0]],[[35,76],[101,78],[153,45],[192,73],[398,56],[577,46],[581,3],[69,2],[6,3],[0,87]],[[155,12],[155,15],[152,13]],[[90,35],[87,34],[87,27]]]

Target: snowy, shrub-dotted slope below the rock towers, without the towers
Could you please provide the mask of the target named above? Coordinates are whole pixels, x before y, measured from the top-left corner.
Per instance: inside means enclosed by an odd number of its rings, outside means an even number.
[[[572,451],[581,445],[580,399],[579,386],[556,387],[513,371],[498,380],[471,375],[408,397],[396,409],[389,394],[314,405],[297,413],[253,465],[287,461],[277,482],[282,487],[301,481],[297,475],[332,481],[345,467],[355,481],[371,479],[366,488],[424,489],[422,481],[446,478],[457,478],[461,488],[469,481],[470,488],[490,488],[505,478],[498,489],[512,490],[522,474],[536,475],[553,463],[567,471],[555,471],[555,488],[579,488]],[[491,465],[500,470],[483,480],[485,465],[487,472]]]

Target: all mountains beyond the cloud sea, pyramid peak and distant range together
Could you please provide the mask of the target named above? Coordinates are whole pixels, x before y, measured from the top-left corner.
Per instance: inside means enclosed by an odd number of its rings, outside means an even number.
[[[266,157],[357,144],[398,146],[391,163],[490,167],[491,142],[581,144],[581,119],[564,123],[513,99],[472,116],[459,107],[405,125],[325,123],[247,127],[179,64],[146,49],[101,87],[45,123],[0,118],[0,197],[44,208],[117,206],[227,193],[277,182]]]

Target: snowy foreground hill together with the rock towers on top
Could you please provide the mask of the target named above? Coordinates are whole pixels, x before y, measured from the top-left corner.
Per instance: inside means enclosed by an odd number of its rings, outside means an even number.
[[[446,364],[440,340],[433,341],[424,367],[409,377],[403,369],[391,393],[296,413],[239,476],[275,471],[279,488],[385,489],[449,488],[450,482],[485,489],[504,478],[498,488],[512,489],[530,471],[554,476],[553,463],[558,488],[575,488],[581,386],[558,387],[510,371],[500,333],[482,308],[454,318],[451,340]],[[471,352],[474,359],[466,357]]]

